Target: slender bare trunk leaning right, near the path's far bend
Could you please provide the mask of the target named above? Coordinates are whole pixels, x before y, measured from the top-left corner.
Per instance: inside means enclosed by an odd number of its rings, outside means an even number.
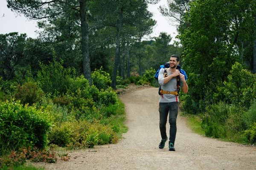
[[[114,64],[114,70],[113,70],[113,77],[111,82],[111,87],[113,89],[116,89],[116,74],[117,74],[117,68],[119,66],[120,62],[120,37],[121,37],[121,31],[122,31],[122,9],[120,11],[119,16],[119,28],[117,30],[116,34],[116,55],[115,55],[115,64]]]

